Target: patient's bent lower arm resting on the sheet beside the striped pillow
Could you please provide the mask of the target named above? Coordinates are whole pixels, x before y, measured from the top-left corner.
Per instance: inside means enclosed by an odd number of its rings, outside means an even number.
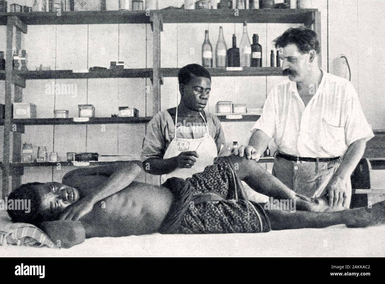
[[[86,236],[85,227],[81,222],[69,220],[42,222],[40,229],[57,247],[65,249],[84,242]]]

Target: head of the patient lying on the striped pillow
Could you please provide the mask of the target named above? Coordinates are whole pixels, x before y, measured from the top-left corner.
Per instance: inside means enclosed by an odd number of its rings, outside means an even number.
[[[39,224],[59,219],[66,207],[79,200],[79,191],[59,182],[33,182],[15,189],[8,200],[31,200],[30,212],[8,210],[13,222]]]

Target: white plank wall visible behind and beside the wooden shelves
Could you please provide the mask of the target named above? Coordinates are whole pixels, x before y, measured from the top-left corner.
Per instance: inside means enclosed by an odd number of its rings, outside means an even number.
[[[8,1],[8,4],[10,1]],[[12,1],[25,5],[24,0]],[[117,0],[107,0],[107,9],[116,10]],[[159,0],[159,8],[180,7],[183,0]],[[28,1],[27,1],[28,5]],[[29,4],[30,5],[30,4]],[[352,82],[360,95],[363,110],[373,129],[385,129],[385,11],[382,0],[312,0],[312,7],[321,11],[323,68],[333,73],[333,60],[346,55],[352,70]],[[161,35],[161,66],[182,67],[189,63],[201,63],[201,45],[204,30],[208,29],[215,48],[219,26],[224,28],[228,48],[232,34],[241,40],[242,24],[165,24]],[[271,41],[290,24],[248,24],[251,40],[259,34],[263,47],[263,66],[269,66]],[[0,26],[0,50],[5,51],[5,26]],[[62,25],[29,26],[23,37],[28,52],[28,68],[43,64],[52,69],[78,69],[92,66],[108,67],[110,61],[125,61],[126,68],[152,67],[152,31],[150,25]],[[191,48],[194,52],[191,54]],[[214,62],[215,65],[215,62]],[[246,103],[249,107],[262,107],[267,91],[282,77],[214,77],[208,110],[215,111],[218,100]],[[70,117],[77,116],[78,104],[94,104],[97,117],[109,117],[122,105],[135,106],[141,116],[152,115],[152,95],[146,94],[149,79],[89,79],[56,80],[56,83],[77,84],[76,98],[45,95],[49,80],[28,80],[23,90],[23,101],[38,106],[38,117],[53,117],[54,109],[69,109]],[[165,78],[161,87],[161,109],[177,104],[177,78]],[[4,82],[0,82],[0,102],[4,102]],[[253,122],[225,122],[226,141],[246,144]],[[23,142],[47,146],[48,151],[98,152],[99,154],[138,155],[146,127],[140,125],[81,126],[27,126]],[[0,127],[0,137],[3,127]],[[0,149],[2,149],[0,139]],[[0,159],[3,152],[0,151]],[[22,182],[60,181],[70,168],[58,171],[50,167],[26,168]],[[138,180],[152,182],[142,175]]]

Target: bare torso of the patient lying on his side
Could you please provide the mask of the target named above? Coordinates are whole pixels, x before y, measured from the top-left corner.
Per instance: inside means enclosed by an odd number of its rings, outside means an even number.
[[[86,237],[121,237],[157,232],[173,200],[165,187],[132,182],[97,202],[80,221]]]

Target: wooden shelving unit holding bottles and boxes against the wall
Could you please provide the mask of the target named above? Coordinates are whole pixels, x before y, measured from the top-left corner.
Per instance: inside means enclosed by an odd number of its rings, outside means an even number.
[[[26,80],[35,79],[93,79],[93,78],[150,78],[152,81],[152,109],[153,114],[160,110],[160,96],[162,77],[176,77],[177,68],[161,68],[161,34],[163,23],[302,23],[313,28],[320,37],[321,43],[321,15],[316,9],[260,9],[239,10],[239,15],[234,15],[234,10],[156,10],[156,11],[86,11],[86,12],[33,12],[33,13],[0,13],[0,25],[7,26],[6,67],[0,71],[0,80],[5,80],[5,119],[0,120],[4,125],[3,162],[0,164],[3,171],[3,197],[8,194],[8,176],[12,175],[12,189],[21,182],[22,168],[25,164],[16,163],[20,159],[22,131],[12,132],[12,125],[56,125],[73,124],[71,119],[12,119],[11,85],[15,86],[15,99],[13,102],[22,102],[22,88]],[[28,32],[28,25],[80,25],[80,24],[151,24],[153,67],[143,69],[102,70],[96,72],[74,73],[72,70],[52,71],[13,71],[12,48],[15,35]],[[14,32],[14,28],[15,32]],[[21,48],[17,46],[17,48]],[[320,58],[321,64],[321,58]],[[211,68],[212,76],[280,76],[281,69],[277,67],[244,68],[242,71],[227,71],[224,68]],[[126,118],[94,118],[85,124],[104,123],[146,123],[151,117],[137,119]],[[222,121],[226,117],[220,116]],[[239,120],[229,121],[255,121],[258,116],[244,115]],[[77,123],[81,124],[81,123]],[[21,127],[23,129],[23,127]],[[10,136],[13,135],[12,145]],[[13,155],[10,157],[10,148]],[[10,162],[12,160],[12,162]],[[32,165],[28,165],[32,166]],[[34,166],[34,165],[33,165]],[[47,166],[52,166],[47,164]]]

